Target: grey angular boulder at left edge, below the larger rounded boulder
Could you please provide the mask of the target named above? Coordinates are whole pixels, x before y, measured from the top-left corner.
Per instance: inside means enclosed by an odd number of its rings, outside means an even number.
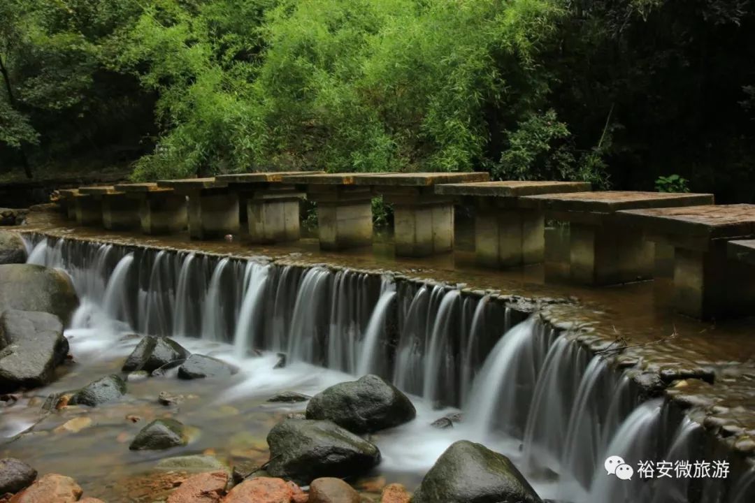
[[[11,309],[0,316],[0,347],[0,392],[11,392],[51,382],[68,339],[54,314]]]

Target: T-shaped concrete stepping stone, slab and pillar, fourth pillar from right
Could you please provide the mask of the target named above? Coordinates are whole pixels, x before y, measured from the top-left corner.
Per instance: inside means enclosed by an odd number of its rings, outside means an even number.
[[[353,177],[393,204],[396,256],[423,257],[454,248],[454,198],[438,195],[435,186],[486,182],[488,173],[371,173]]]

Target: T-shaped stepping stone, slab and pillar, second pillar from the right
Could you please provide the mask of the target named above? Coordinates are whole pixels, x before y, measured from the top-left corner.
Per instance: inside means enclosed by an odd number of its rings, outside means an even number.
[[[655,246],[636,228],[620,225],[619,210],[712,204],[711,194],[658,192],[569,192],[528,195],[522,208],[544,211],[550,219],[569,222],[569,279],[590,285],[649,279],[655,268]],[[546,250],[548,254],[548,250]]]

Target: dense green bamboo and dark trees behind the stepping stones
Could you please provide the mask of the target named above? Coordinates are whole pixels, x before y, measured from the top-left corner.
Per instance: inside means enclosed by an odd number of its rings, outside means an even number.
[[[753,14],[744,0],[5,0],[0,162],[94,150],[134,161],[135,179],[489,170],[752,200]]]

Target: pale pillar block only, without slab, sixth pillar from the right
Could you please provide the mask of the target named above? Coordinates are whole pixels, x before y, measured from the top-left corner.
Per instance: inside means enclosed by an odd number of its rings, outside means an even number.
[[[252,244],[273,244],[299,239],[300,198],[248,198],[246,215],[248,241]]]

